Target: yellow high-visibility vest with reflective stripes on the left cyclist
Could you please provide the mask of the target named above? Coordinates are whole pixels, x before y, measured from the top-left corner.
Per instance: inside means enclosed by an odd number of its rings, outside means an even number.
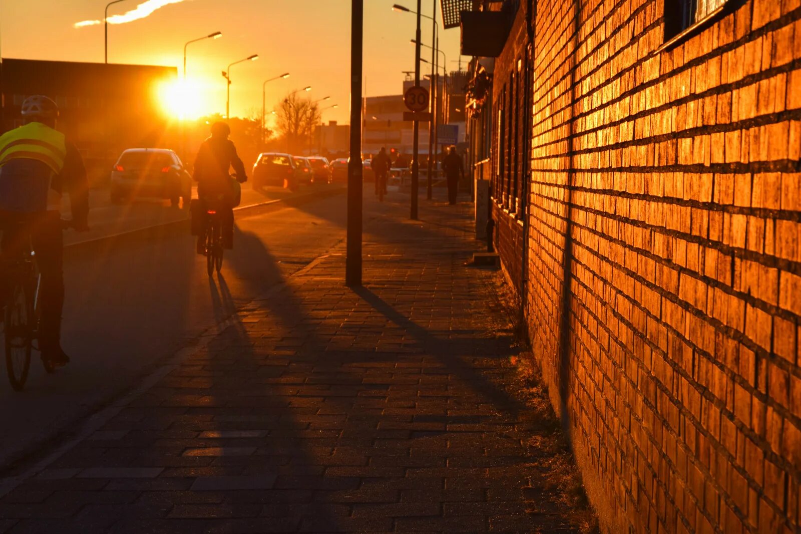
[[[6,131],[0,136],[0,167],[14,158],[41,161],[58,174],[66,158],[64,134],[42,123]]]

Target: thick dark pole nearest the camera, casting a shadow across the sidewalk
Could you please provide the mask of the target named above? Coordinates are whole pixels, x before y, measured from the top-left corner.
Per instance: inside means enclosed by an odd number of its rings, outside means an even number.
[[[419,0],[418,0],[419,2]],[[351,126],[348,160],[348,243],[345,252],[345,285],[361,285],[362,163],[361,74],[364,48],[364,0],[351,0]]]

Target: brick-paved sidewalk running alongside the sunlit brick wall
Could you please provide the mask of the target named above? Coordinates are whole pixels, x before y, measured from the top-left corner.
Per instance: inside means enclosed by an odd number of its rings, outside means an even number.
[[[363,289],[341,245],[239,310],[2,497],[0,532],[588,531],[500,275],[464,265],[469,204],[407,209],[368,225]]]

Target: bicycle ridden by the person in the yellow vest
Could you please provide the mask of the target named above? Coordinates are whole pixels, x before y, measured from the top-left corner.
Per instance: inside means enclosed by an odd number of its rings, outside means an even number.
[[[70,221],[62,220],[62,229],[70,227]],[[16,231],[21,225],[7,227],[4,231]],[[30,353],[40,351],[39,322],[41,309],[39,289],[42,275],[36,265],[36,253],[30,244],[30,235],[22,241],[22,247],[15,251],[14,257],[4,259],[6,301],[3,311],[3,350],[6,354],[6,371],[11,387],[21,391],[30,371]],[[37,342],[34,346],[34,341]],[[47,373],[56,370],[57,365],[42,359]]]

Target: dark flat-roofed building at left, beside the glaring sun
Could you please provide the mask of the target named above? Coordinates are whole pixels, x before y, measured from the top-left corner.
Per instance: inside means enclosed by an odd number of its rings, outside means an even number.
[[[163,91],[175,67],[2,59],[2,131],[22,123],[28,95],[58,103],[58,129],[78,147],[93,176],[105,180],[119,152],[131,147],[178,148]]]

